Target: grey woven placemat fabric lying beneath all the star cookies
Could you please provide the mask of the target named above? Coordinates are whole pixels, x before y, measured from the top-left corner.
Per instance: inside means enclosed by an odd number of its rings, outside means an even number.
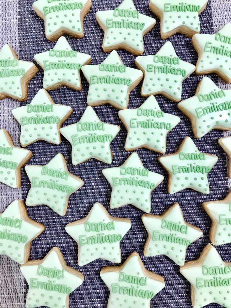
[[[33,61],[35,54],[50,49],[55,45],[55,42],[50,42],[44,35],[44,22],[34,13],[32,10],[32,3],[34,0],[24,0],[18,3],[18,36],[19,36],[19,55],[21,59]],[[12,15],[17,13],[17,7],[12,7],[9,10],[8,3],[14,3],[16,1],[1,1],[0,12],[9,12],[7,20],[3,22],[3,26],[6,27],[9,20],[12,20]],[[5,6],[2,7],[2,3]],[[84,22],[85,36],[81,40],[76,40],[67,37],[73,49],[86,52],[92,55],[92,64],[98,64],[102,62],[106,54],[102,51],[102,39],[103,31],[100,29],[98,23],[95,20],[95,12],[103,9],[112,9],[120,3],[116,1],[93,1],[93,7],[91,12],[87,15]],[[134,1],[137,10],[143,14],[154,17],[152,12],[148,9],[148,0]],[[6,10],[7,7],[7,10]],[[200,15],[201,20],[201,33],[213,33],[218,30],[223,24],[226,23],[226,16],[230,15],[231,8],[229,0],[227,1],[210,1],[206,10]],[[17,16],[16,16],[17,17]],[[17,18],[16,18],[17,19]],[[2,19],[1,19],[2,22]],[[14,23],[15,24],[15,23]],[[15,26],[17,28],[17,26]],[[14,28],[14,27],[13,27]],[[1,26],[1,34],[6,33],[9,35],[9,30],[5,31]],[[17,32],[17,31],[16,31]],[[11,42],[11,37],[2,37],[1,45],[5,42]],[[176,53],[182,60],[196,64],[197,54],[191,45],[191,40],[183,35],[174,35],[168,39],[173,43]],[[164,41],[160,38],[160,23],[157,20],[157,24],[152,31],[145,36],[144,39],[145,49],[144,55],[154,54],[164,44]],[[12,42],[13,44],[13,42]],[[126,51],[119,51],[119,54],[126,66],[135,68],[135,57]],[[222,82],[215,75],[209,76],[215,83],[222,84]],[[43,73],[40,70],[39,73],[33,78],[29,84],[29,103],[37,91],[42,87]],[[196,86],[201,78],[192,74],[183,84],[183,96],[182,99],[186,99],[195,94]],[[55,91],[50,91],[50,94],[55,103],[70,105],[74,112],[72,116],[65,122],[64,125],[77,122],[85,110],[86,98],[89,85],[82,77],[83,91],[76,92],[68,88],[61,88]],[[226,85],[224,85],[226,87]],[[138,107],[145,100],[140,96],[141,84],[132,91],[130,95],[129,108]],[[168,135],[167,141],[167,154],[177,150],[180,142],[185,136],[193,137],[189,120],[179,111],[177,104],[164,98],[163,96],[156,97],[161,109],[164,112],[169,112],[180,116],[180,124]],[[9,128],[10,132],[14,132],[13,138],[18,140],[18,125],[13,122],[10,111],[13,107],[16,107],[17,102],[13,102],[11,108],[6,109],[4,106],[8,106],[11,100],[4,100],[0,105],[2,107],[2,114],[7,112],[4,119],[4,123],[1,123],[2,127]],[[8,103],[7,103],[8,102]],[[25,102],[20,105],[25,105]],[[1,108],[1,107],[0,107]],[[9,110],[10,109],[10,110]],[[118,124],[121,126],[121,132],[112,142],[113,162],[110,166],[121,165],[128,156],[128,153],[124,150],[124,143],[126,139],[126,129],[118,119],[118,110],[110,105],[95,107],[94,110],[99,115],[100,119],[104,122]],[[14,123],[14,124],[13,124]],[[13,125],[14,128],[13,128]],[[11,128],[10,128],[11,127]],[[203,238],[191,244],[187,250],[186,260],[192,260],[199,257],[204,246],[209,243],[209,228],[210,219],[201,208],[201,203],[208,200],[223,199],[228,193],[228,180],[227,180],[227,162],[226,155],[219,147],[217,139],[223,136],[222,131],[212,131],[201,139],[196,139],[195,143],[201,151],[216,154],[219,157],[217,165],[212,169],[209,174],[210,195],[202,195],[200,193],[184,190],[174,195],[167,193],[167,173],[162,166],[157,162],[158,154],[140,149],[137,153],[140,155],[142,162],[149,170],[161,173],[164,175],[164,182],[157,187],[152,194],[152,209],[151,213],[161,214],[164,210],[169,208],[173,203],[179,202],[185,216],[185,220],[191,224],[194,224],[202,229],[204,232]],[[194,139],[193,139],[194,140]],[[62,153],[67,160],[68,168],[73,174],[80,176],[85,182],[84,186],[76,193],[74,193],[69,200],[69,206],[67,214],[64,217],[60,217],[50,208],[46,206],[27,207],[29,216],[45,225],[46,230],[32,242],[30,259],[40,259],[46,255],[46,253],[53,247],[58,246],[62,251],[67,265],[80,270],[84,274],[84,283],[77,290],[75,290],[70,296],[70,308],[74,307],[106,307],[109,291],[105,284],[99,277],[101,267],[105,265],[111,265],[108,261],[96,260],[84,267],[79,267],[77,264],[77,244],[67,235],[64,227],[67,223],[85,217],[92,207],[93,203],[98,201],[105,205],[109,213],[113,216],[128,217],[132,220],[132,228],[121,242],[122,262],[133,251],[137,251],[144,265],[151,271],[154,271],[165,278],[165,288],[157,294],[151,301],[151,308],[185,308],[191,307],[190,298],[190,285],[180,275],[179,267],[169,260],[167,257],[158,256],[146,258],[143,256],[143,247],[147,238],[147,233],[141,222],[141,214],[137,208],[132,206],[126,206],[119,209],[111,210],[109,208],[110,202],[110,185],[102,175],[101,170],[107,167],[104,163],[89,160],[81,165],[73,166],[71,163],[71,146],[62,138],[62,143],[59,146],[47,144],[45,142],[37,142],[27,147],[33,152],[33,158],[30,160],[30,164],[46,164],[57,153]],[[110,167],[109,166],[109,167]],[[3,187],[3,186],[2,186]],[[1,195],[3,189],[1,187]],[[22,198],[25,201],[26,195],[29,191],[30,182],[27,178],[25,171],[22,173]],[[4,191],[3,191],[4,192]],[[8,196],[8,195],[7,195]],[[10,198],[12,195],[9,194]],[[2,198],[3,207],[5,208],[10,202],[9,198]],[[230,259],[230,244],[218,247],[218,251],[221,254],[223,260],[231,261]],[[15,268],[18,268],[15,263],[7,258],[0,258],[1,261],[1,284],[4,284],[8,280],[8,277],[12,276],[10,272],[15,273]],[[13,265],[13,270],[10,271],[10,266]],[[3,267],[3,270],[2,270]],[[8,268],[8,271],[6,271]],[[18,276],[19,278],[20,276]],[[4,279],[4,280],[3,280]],[[21,278],[16,279],[17,282],[14,287],[7,286],[4,292],[4,301],[0,297],[0,306],[3,308],[23,307],[22,298],[16,300],[16,295],[9,297],[9,294],[21,294],[18,284],[23,282]],[[27,292],[27,284],[25,286],[25,296]],[[2,291],[0,291],[2,292]],[[8,295],[6,295],[8,294]],[[0,293],[0,295],[2,295]],[[9,304],[8,304],[9,303]],[[17,303],[17,304],[16,304]],[[218,307],[216,304],[208,305],[207,307]]]

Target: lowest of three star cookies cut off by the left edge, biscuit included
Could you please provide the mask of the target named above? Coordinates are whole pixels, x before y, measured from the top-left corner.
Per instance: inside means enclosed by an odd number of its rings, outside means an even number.
[[[44,231],[44,226],[28,217],[22,200],[13,201],[0,214],[0,255],[18,263],[30,256],[30,243]]]

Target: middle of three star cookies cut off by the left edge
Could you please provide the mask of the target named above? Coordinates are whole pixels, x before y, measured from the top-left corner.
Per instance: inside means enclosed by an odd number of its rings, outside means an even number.
[[[32,152],[14,146],[10,134],[0,129],[0,182],[13,187],[21,186],[21,168],[32,157]]]

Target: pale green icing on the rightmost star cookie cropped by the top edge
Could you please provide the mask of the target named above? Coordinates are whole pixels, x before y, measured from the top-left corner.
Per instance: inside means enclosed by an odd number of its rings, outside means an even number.
[[[150,0],[150,3],[154,4],[163,14],[161,32],[167,33],[180,26],[200,32],[198,12],[207,0]]]

